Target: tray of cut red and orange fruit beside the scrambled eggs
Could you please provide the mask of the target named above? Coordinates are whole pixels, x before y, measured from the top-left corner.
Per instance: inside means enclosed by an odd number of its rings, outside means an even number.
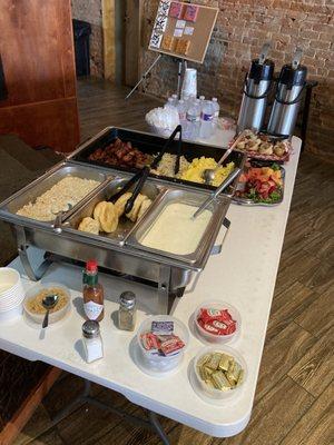
[[[233,200],[248,206],[276,206],[283,201],[285,170],[277,164],[247,162]]]

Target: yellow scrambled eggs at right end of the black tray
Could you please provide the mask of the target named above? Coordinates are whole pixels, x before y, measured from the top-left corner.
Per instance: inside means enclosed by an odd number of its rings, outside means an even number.
[[[216,168],[217,162],[214,158],[196,158],[193,160],[190,166],[181,174],[180,179],[189,180],[193,182],[204,184],[203,172],[207,168]],[[213,181],[213,186],[218,187],[227,178],[227,176],[234,170],[234,162],[227,164],[226,167],[219,167],[216,171],[215,180]]]

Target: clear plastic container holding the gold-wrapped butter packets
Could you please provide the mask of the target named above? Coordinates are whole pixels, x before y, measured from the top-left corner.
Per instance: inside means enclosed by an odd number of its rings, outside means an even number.
[[[229,390],[220,390],[216,388],[210,388],[199,376],[199,373],[197,370],[197,364],[199,359],[207,355],[207,354],[213,354],[213,353],[224,353],[229,356],[232,356],[238,364],[242,366],[244,369],[244,378],[243,382],[239,386],[237,386],[234,389]],[[194,369],[193,369],[194,378],[193,378],[193,387],[195,392],[206,402],[209,403],[224,403],[224,400],[229,399],[229,398],[235,398],[237,397],[247,379],[247,365],[246,362],[244,360],[243,356],[235,349],[229,348],[228,346],[206,346],[205,348],[200,349],[200,352],[197,354],[197,356],[194,359]]]

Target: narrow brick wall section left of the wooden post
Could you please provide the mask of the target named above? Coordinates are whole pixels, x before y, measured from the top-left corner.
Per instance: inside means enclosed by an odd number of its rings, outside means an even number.
[[[90,75],[104,77],[104,33],[101,0],[71,0],[72,18],[91,24]]]

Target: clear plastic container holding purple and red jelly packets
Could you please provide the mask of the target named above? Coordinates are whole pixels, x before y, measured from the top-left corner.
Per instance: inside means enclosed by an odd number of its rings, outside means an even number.
[[[154,355],[145,349],[140,336],[151,332],[151,322],[174,322],[174,334],[177,335],[185,344],[179,353],[171,356]],[[143,365],[154,373],[167,373],[175,369],[183,360],[185,350],[189,344],[189,333],[184,323],[169,315],[153,315],[147,317],[137,332],[137,342],[140,348]]]

